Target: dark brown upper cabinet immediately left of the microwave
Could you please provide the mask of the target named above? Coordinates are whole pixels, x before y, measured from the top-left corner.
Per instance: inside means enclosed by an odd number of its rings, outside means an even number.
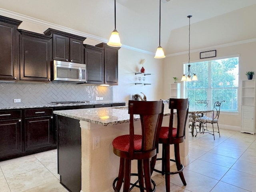
[[[51,37],[26,30],[20,32],[20,80],[50,82]]]

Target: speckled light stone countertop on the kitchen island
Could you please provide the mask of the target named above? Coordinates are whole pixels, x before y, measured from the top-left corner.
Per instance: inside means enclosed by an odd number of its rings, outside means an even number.
[[[112,126],[130,122],[128,106],[59,110],[53,113],[102,126]],[[168,116],[169,114],[170,109],[168,108],[168,104],[164,104],[164,116]],[[140,120],[140,116],[134,115],[134,120]]]

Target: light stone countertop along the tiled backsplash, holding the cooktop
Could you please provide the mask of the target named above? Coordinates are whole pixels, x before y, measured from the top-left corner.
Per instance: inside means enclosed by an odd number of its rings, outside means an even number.
[[[114,104],[114,103],[126,103],[124,102],[115,102],[115,101],[92,101],[92,102],[86,102],[86,103],[74,103],[74,104],[31,104],[26,105],[22,103],[13,104],[13,105],[6,105],[6,106],[0,106],[0,110],[6,110],[6,109],[26,109],[26,108],[44,108],[44,107],[65,107],[65,106],[82,106],[82,105],[97,105],[97,104]]]

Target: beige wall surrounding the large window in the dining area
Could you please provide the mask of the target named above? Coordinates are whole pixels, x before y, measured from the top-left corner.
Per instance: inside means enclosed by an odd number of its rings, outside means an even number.
[[[213,48],[214,49],[214,48]],[[238,44],[234,46],[227,46],[222,48],[215,48],[217,51],[217,56],[211,59],[222,58],[225,56],[240,55],[239,56],[239,97],[238,97],[238,114],[227,115],[221,114],[220,124],[230,125],[230,126],[240,126],[241,118],[241,80],[246,80],[247,76],[245,75],[246,71],[256,71],[255,65],[255,50],[256,42]],[[190,62],[196,62],[200,60],[200,51],[193,52],[190,54]],[[208,59],[209,60],[209,59]],[[203,59],[201,59],[203,61]],[[163,97],[168,98],[170,92],[168,90],[169,84],[173,83],[172,77],[178,77],[181,79],[183,74],[183,62],[188,62],[188,54],[182,54],[178,56],[168,57],[164,60],[164,80],[163,80]],[[256,79],[256,76],[253,76],[253,79]],[[179,81],[180,82],[180,81]],[[183,82],[182,87],[183,87]],[[183,95],[183,90],[182,90]]]

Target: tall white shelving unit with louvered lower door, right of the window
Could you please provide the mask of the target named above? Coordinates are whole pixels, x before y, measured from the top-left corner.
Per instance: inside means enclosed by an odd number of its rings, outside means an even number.
[[[241,132],[256,132],[256,80],[242,80]]]

